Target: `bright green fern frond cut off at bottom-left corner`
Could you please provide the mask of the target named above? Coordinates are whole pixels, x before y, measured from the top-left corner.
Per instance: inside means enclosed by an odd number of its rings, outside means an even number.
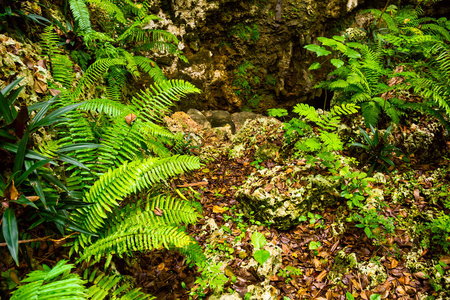
[[[70,274],[73,265],[60,260],[52,269],[44,266],[44,270],[33,271],[22,282],[11,300],[85,300],[84,281],[77,274]]]

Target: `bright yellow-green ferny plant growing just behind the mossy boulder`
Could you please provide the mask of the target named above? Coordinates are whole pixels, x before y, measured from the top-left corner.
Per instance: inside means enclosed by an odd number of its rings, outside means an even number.
[[[304,137],[295,143],[295,148],[298,154],[307,153],[308,163],[314,164],[320,160],[324,166],[331,167],[335,160],[332,152],[342,150],[344,147],[336,133],[341,122],[340,116],[356,113],[357,109],[358,106],[354,104],[344,104],[319,114],[314,107],[299,103],[294,107],[294,112],[301,119],[293,118],[284,123],[285,135],[290,141],[297,139],[296,134]],[[316,125],[318,134],[315,134],[309,125],[311,122]]]

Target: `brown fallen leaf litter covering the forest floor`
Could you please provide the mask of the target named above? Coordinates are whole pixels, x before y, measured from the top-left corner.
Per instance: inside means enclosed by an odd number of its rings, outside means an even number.
[[[251,156],[249,156],[251,157]],[[242,224],[254,225],[255,220],[243,218],[239,213],[239,203],[235,199],[236,187],[246,180],[248,175],[257,171],[257,167],[250,164],[250,159],[232,160],[227,155],[209,162],[202,169],[192,174],[178,178],[174,187],[190,186],[192,190],[199,193],[197,198],[201,202],[204,211],[204,219],[195,226],[189,226],[188,232],[204,248],[208,248],[209,235],[205,232],[205,220],[214,219],[219,228],[224,225],[231,229],[230,235],[224,235],[219,241],[224,245],[232,245],[233,239],[242,233]],[[435,165],[409,165],[397,166],[400,170],[408,171],[417,177],[426,174],[438,167],[448,163],[443,160]],[[275,163],[271,160],[264,161],[258,167],[272,167]],[[207,184],[205,184],[207,182]],[[419,182],[418,188],[429,188],[430,182]],[[436,183],[435,183],[436,184]],[[448,184],[447,181],[441,184]],[[386,184],[388,188],[390,183]],[[429,204],[423,197],[414,192],[415,198],[409,199],[405,204],[389,204],[384,214],[392,217],[406,217],[411,206],[417,206],[420,211],[429,209]],[[389,199],[387,199],[387,203]],[[278,272],[270,277],[270,285],[278,290],[276,299],[352,299],[346,296],[350,292],[354,299],[424,299],[423,295],[436,295],[430,284],[429,277],[424,272],[412,273],[406,266],[407,256],[411,251],[417,251],[407,229],[398,226],[395,232],[387,235],[382,243],[374,243],[369,239],[364,230],[354,226],[354,223],[346,223],[346,228],[340,235],[333,234],[332,224],[336,223],[339,215],[338,210],[345,203],[337,203],[322,211],[314,211],[317,222],[303,222],[287,231],[280,231],[270,226],[258,226],[257,230],[265,235],[268,242],[282,249],[282,266]],[[398,225],[398,224],[396,224]],[[209,227],[208,227],[209,228]],[[309,248],[311,241],[320,242],[316,251]],[[417,242],[416,242],[417,243]],[[225,274],[231,279],[225,284],[224,290],[232,288],[237,291],[242,299],[248,292],[247,287],[258,284],[264,280],[260,278],[253,267],[244,267],[249,257],[239,255],[244,249],[252,253],[251,233],[246,231],[245,236],[233,247],[231,258],[226,262]],[[384,268],[387,278],[382,283],[371,285],[369,272],[361,272],[358,268],[348,268],[345,275],[337,281],[328,279],[333,272],[333,264],[339,252],[349,255],[356,254],[358,262],[373,262]],[[212,252],[227,252],[226,247],[214,247]],[[342,253],[342,252],[341,252]],[[250,255],[251,256],[251,255]],[[425,249],[417,257],[419,262],[427,262],[438,258],[443,263],[450,263],[450,256],[443,255],[439,251]],[[207,299],[212,290],[204,290],[202,293],[192,293],[198,290],[198,284],[194,283],[199,273],[195,272],[185,264],[183,257],[175,252],[162,250],[142,256],[143,261],[137,266],[130,266],[124,270],[138,280],[138,285],[147,292],[152,293],[157,299]],[[290,267],[293,267],[289,269]],[[224,266],[225,267],[225,266]],[[448,267],[444,267],[448,269]],[[290,270],[290,272],[289,272]],[[292,270],[301,270],[301,274],[295,274]],[[295,274],[295,275],[294,275]],[[450,291],[441,291],[448,295]],[[372,294],[378,294],[380,297]],[[376,296],[376,297],[375,297]],[[444,296],[445,297],[445,296]],[[217,298],[218,299],[218,298]],[[228,299],[228,298],[224,298]],[[235,299],[235,298],[230,298]],[[245,298],[257,299],[257,298]],[[265,298],[266,299],[266,298]],[[275,299],[275,298],[273,298]],[[431,298],[430,298],[431,299]]]

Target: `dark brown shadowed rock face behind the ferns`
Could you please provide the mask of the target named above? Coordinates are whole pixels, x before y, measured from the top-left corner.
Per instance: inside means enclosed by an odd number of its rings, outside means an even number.
[[[180,102],[178,109],[265,112],[270,107],[290,107],[317,99],[321,91],[313,87],[330,71],[309,70],[323,57],[303,47],[356,23],[371,24],[367,17],[355,23],[354,17],[362,8],[382,9],[385,4],[375,0],[154,1],[154,13],[162,18],[155,26],[180,38],[190,63],[158,62],[170,78],[188,80],[203,90]],[[441,14],[449,10],[438,9]]]

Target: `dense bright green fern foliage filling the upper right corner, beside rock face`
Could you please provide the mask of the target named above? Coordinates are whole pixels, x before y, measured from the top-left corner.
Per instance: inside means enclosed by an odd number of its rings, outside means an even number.
[[[450,24],[446,18],[420,18],[420,9],[391,5],[382,12],[366,10],[376,21],[372,34],[359,42],[351,36],[321,37],[322,45],[307,45],[318,56],[330,56],[335,70],[316,87],[335,92],[336,103],[361,106],[367,127],[381,117],[398,123],[409,110],[439,119],[450,128],[446,117],[450,65]],[[379,22],[381,21],[381,22]],[[387,28],[377,28],[387,26]],[[382,27],[381,26],[381,27]],[[311,69],[319,68],[319,64]],[[420,101],[407,101],[413,91]]]

